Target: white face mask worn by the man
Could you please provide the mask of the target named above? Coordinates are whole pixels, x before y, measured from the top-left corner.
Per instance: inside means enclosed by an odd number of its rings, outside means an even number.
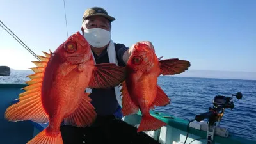
[[[101,28],[84,29],[84,38],[96,48],[106,46],[111,40],[109,31]]]

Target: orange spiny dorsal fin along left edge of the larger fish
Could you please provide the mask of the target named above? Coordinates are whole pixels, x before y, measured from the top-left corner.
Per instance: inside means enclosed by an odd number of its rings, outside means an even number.
[[[51,52],[51,51],[50,51]],[[45,68],[51,54],[43,52],[45,56],[38,56],[42,61],[32,61],[37,67],[29,68],[35,72],[29,77],[31,80],[25,83],[28,86],[22,88],[25,92],[19,94],[19,102],[8,107],[5,112],[5,117],[10,121],[31,120],[38,123],[46,123],[49,118],[42,106],[41,88],[44,78]]]

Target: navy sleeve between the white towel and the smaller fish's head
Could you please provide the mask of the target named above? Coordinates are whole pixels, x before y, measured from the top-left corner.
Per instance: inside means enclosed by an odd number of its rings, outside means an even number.
[[[124,56],[124,52],[127,51],[128,49],[129,47],[126,47],[124,44],[115,44],[116,58],[118,61],[118,65],[125,66],[123,56]]]

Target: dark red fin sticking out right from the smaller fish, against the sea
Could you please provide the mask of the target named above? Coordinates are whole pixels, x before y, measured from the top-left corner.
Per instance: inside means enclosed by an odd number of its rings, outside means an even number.
[[[190,67],[189,61],[179,60],[177,58],[160,60],[159,63],[161,63],[160,69],[163,75],[180,74]]]

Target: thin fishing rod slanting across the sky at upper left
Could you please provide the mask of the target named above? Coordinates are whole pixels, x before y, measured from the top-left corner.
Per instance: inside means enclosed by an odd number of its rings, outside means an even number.
[[[7,32],[9,33],[15,40],[17,40],[17,42],[19,42],[20,45],[22,45],[28,52],[30,52],[33,56],[35,56],[35,58],[39,61],[40,58],[38,58],[38,56],[36,56],[35,52],[33,52],[31,49],[29,49],[29,47],[24,44],[24,42],[22,42],[22,40],[20,40],[20,38],[15,35],[1,20],[0,20],[0,26]],[[7,30],[8,29],[8,30]],[[11,34],[12,33],[12,34]]]

